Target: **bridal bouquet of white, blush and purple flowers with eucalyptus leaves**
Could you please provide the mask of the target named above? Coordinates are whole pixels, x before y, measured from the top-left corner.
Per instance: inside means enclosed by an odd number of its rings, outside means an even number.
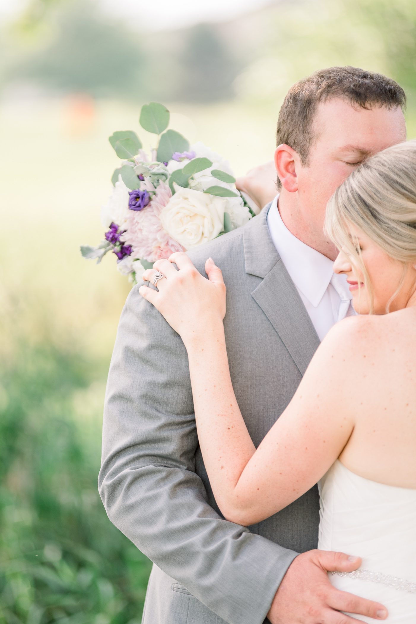
[[[157,102],[141,108],[139,124],[157,137],[150,153],[132,130],[108,139],[121,163],[101,210],[105,238],[97,247],[81,246],[83,257],[97,263],[114,253],[118,270],[133,283],[159,258],[193,249],[255,214],[235,188],[229,162],[203,143],[189,145],[179,132],[167,130],[169,117]]]

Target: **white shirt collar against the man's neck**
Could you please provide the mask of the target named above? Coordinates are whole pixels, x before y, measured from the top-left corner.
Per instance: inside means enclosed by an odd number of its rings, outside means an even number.
[[[334,275],[334,263],[289,232],[278,211],[278,198],[279,195],[267,215],[270,236],[293,283],[317,308]],[[347,298],[350,297],[349,294]]]

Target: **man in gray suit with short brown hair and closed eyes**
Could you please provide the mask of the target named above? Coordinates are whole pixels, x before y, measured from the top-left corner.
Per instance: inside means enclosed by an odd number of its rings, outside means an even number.
[[[404,104],[393,80],[354,67],[295,84],[278,120],[280,195],[245,227],[189,253],[203,274],[209,256],[222,268],[230,373],[256,446],[319,341],[353,313],[346,284],[333,276],[326,202],[364,158],[405,140]],[[249,529],[222,518],[198,446],[186,350],[138,286],[111,361],[99,487],[111,521],[154,562],[143,624],[355,621],[340,611],[385,617],[381,605],[329,583],[326,570],[355,569],[348,555],[359,553],[314,550],[316,486]]]

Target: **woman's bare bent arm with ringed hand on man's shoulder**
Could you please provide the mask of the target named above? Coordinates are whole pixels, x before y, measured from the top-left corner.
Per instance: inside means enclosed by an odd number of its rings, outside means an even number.
[[[220,270],[207,261],[206,280],[186,255],[174,254],[172,260],[179,271],[166,260],[156,263],[166,275],[158,281],[159,292],[142,286],[140,293],[186,346],[199,442],[215,500],[226,519],[255,524],[310,489],[343,450],[354,428],[342,396],[351,361],[339,349],[339,331],[333,331],[256,451],[230,379]],[[146,271],[144,278],[153,276]]]

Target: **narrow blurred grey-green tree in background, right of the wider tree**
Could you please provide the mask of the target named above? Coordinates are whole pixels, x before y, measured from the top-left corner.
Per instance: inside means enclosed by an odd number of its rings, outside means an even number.
[[[233,95],[232,81],[240,64],[231,56],[214,26],[198,24],[186,32],[179,63],[182,79],[177,99],[215,102]]]

